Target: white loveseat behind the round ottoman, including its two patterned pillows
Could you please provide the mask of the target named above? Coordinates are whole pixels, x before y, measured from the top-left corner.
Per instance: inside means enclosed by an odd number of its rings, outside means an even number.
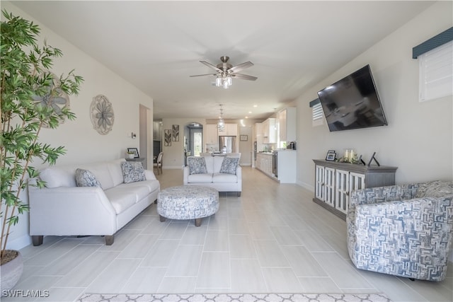
[[[242,168],[238,157],[188,156],[184,185],[213,187],[219,192],[242,192]]]

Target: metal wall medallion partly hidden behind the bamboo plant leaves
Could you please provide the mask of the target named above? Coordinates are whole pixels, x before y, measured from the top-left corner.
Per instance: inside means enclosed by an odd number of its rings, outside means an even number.
[[[34,95],[32,98],[37,106],[52,108],[55,114],[60,116],[59,123],[62,124],[66,120],[64,115],[62,115],[62,110],[70,107],[69,95],[60,88],[59,78],[55,74],[52,74],[52,77],[52,85],[47,87],[47,93],[42,96]],[[48,128],[49,125],[43,123],[42,127]]]

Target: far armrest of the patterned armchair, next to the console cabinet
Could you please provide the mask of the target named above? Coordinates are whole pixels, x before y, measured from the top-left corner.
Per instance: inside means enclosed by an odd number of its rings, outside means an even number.
[[[389,185],[385,187],[369,187],[351,192],[350,207],[358,204],[374,204],[396,200],[413,199],[420,184]]]

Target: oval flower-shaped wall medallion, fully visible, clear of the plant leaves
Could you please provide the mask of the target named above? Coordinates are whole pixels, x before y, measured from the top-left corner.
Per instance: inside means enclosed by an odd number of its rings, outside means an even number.
[[[93,128],[99,134],[108,134],[113,128],[115,115],[113,114],[112,104],[105,95],[96,95],[90,106],[90,117]]]

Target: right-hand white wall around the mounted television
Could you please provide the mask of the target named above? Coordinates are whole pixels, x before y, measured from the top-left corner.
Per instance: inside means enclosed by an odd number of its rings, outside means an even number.
[[[452,1],[440,1],[385,37],[297,100],[297,182],[314,190],[313,158],[352,148],[368,161],[394,165],[396,183],[453,178],[452,96],[419,103],[418,60],[412,48],[452,26]],[[329,84],[369,64],[389,123],[386,127],[329,132],[311,127],[309,102]],[[325,122],[325,121],[324,121]]]

